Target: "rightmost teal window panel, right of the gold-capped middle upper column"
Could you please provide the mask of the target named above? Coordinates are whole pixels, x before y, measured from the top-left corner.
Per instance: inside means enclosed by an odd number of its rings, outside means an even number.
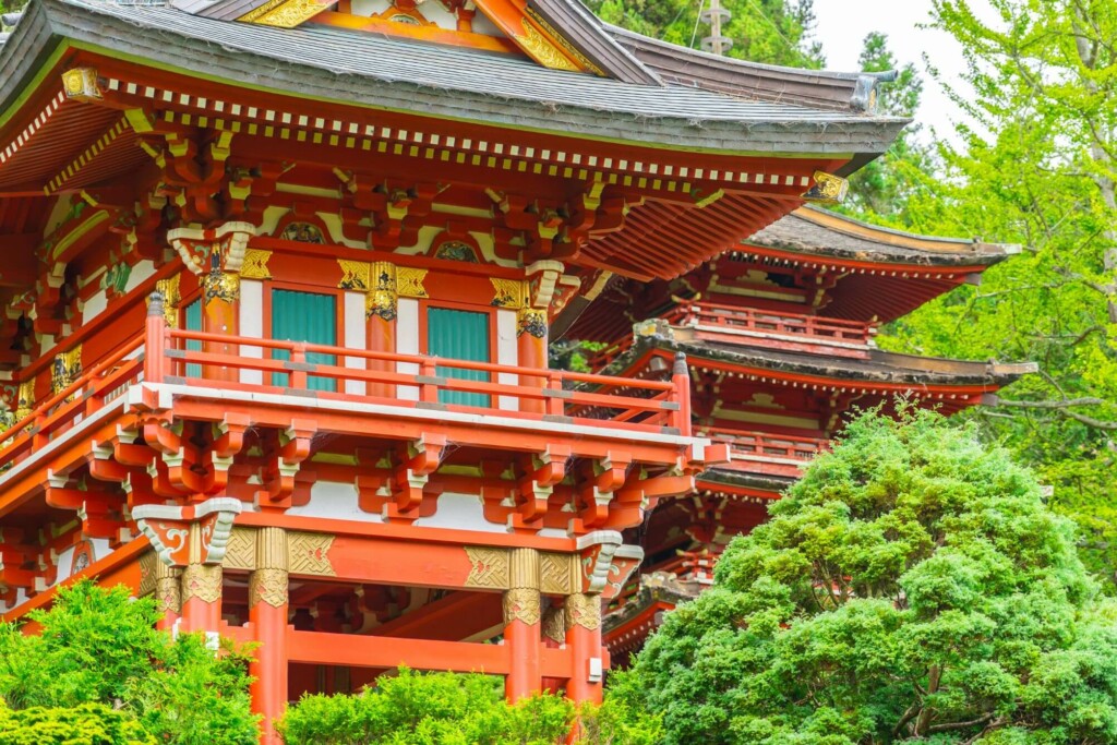
[[[436,357],[489,362],[489,314],[450,308],[430,308],[427,312],[427,353]],[[438,365],[443,378],[487,381],[489,374],[480,370],[460,370]],[[489,397],[464,391],[439,391],[441,403],[467,407],[488,407]]]

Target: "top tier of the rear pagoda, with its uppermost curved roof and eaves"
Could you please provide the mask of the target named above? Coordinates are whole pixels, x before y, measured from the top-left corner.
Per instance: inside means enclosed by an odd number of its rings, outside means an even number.
[[[650,284],[613,278],[599,290],[600,302],[575,299],[557,325],[574,338],[614,341],[632,323],[701,299],[875,327],[976,284],[981,273],[1019,250],[919,236],[804,206],[686,276]]]

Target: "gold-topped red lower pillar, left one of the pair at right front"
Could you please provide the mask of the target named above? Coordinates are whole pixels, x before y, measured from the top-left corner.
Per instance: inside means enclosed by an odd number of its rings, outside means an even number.
[[[541,620],[540,555],[534,548],[514,548],[512,582],[504,593],[504,643],[512,662],[505,694],[512,703],[543,687]]]

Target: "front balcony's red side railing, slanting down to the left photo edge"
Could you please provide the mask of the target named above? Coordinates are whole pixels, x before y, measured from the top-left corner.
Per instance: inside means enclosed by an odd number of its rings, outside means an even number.
[[[142,379],[143,337],[116,350],[105,361],[85,371],[76,381],[39,403],[7,431],[0,432],[0,471],[27,453],[97,412]],[[130,359],[131,357],[131,359]]]

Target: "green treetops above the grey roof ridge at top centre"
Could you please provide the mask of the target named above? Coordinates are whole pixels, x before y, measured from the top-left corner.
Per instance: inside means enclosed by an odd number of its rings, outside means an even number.
[[[684,47],[697,47],[709,27],[698,25],[691,0],[588,0],[590,9],[614,26]],[[723,0],[733,13],[722,34],[733,39],[727,56],[793,67],[822,67],[821,47],[809,42],[814,0]]]

